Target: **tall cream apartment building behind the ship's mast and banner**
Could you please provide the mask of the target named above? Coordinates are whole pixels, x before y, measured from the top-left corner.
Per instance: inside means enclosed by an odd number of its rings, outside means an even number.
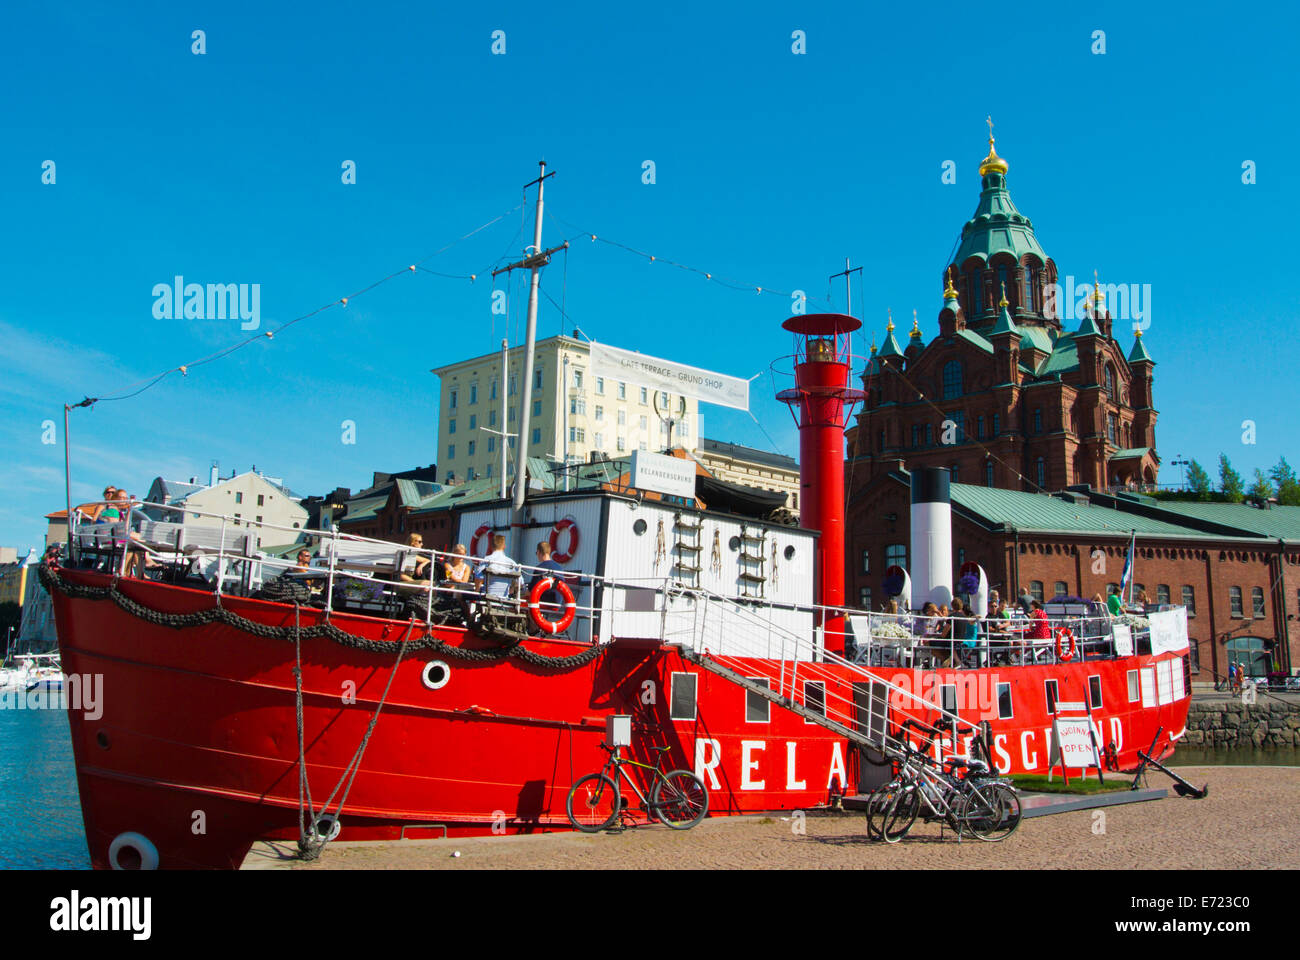
[[[519,432],[523,362],[523,347],[508,351],[507,433]],[[442,385],[438,463],[446,483],[500,476],[500,437],[488,432],[502,429],[500,363],[498,350],[432,371]],[[696,449],[696,399],[607,380],[595,376],[590,366],[590,351],[581,340],[559,336],[537,342],[533,408],[525,437],[528,457],[577,463],[589,460],[593,453],[615,458],[633,450]],[[508,450],[508,471],[514,473],[519,441],[511,438]]]

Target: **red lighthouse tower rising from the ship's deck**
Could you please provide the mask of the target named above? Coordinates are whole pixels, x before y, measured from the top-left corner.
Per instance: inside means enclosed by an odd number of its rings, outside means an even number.
[[[776,398],[790,406],[800,428],[800,516],[820,531],[822,571],[818,602],[844,606],[844,428],[863,392],[849,386],[850,337],[862,321],[844,313],[792,316],[783,328],[794,334],[794,388]],[[822,622],[826,648],[844,653],[844,617]]]

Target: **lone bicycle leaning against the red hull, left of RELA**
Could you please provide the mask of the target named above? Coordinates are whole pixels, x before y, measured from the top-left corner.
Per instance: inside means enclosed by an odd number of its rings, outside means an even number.
[[[619,747],[610,747],[606,743],[601,747],[610,752],[604,766],[598,773],[576,779],[564,800],[564,813],[575,829],[584,834],[595,834],[608,829],[618,820],[624,809],[619,775],[641,800],[641,808],[667,827],[689,830],[708,813],[708,791],[698,777],[689,770],[664,773],[660,769],[671,747],[651,747],[658,753],[654,766],[620,756]],[[649,800],[637,782],[623,769],[625,766],[650,771],[647,775],[653,778],[654,786],[650,788]],[[614,775],[610,774],[611,767]]]

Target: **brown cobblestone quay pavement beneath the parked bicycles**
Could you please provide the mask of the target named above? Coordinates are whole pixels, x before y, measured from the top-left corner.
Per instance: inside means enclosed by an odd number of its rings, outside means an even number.
[[[1300,868],[1300,769],[1179,767],[1209,782],[1204,800],[1170,797],[1027,820],[1002,843],[918,825],[901,843],[872,843],[861,814],[797,818],[719,817],[679,833],[663,826],[620,834],[556,833],[406,843],[332,844],[320,861],[276,861],[265,849],[244,869],[537,870],[537,869],[1296,869]],[[1152,786],[1166,778],[1153,774]],[[1104,814],[1104,817],[1101,816]],[[344,817],[346,822],[346,817]],[[1231,823],[1231,830],[1223,830]],[[255,848],[256,849],[256,848]],[[460,856],[452,856],[455,851]]]

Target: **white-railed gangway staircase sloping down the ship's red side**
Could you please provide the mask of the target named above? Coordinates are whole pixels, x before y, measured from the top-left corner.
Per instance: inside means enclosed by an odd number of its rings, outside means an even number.
[[[982,732],[933,695],[892,683],[780,626],[770,604],[737,602],[707,589],[677,589],[673,601],[662,639],[684,660],[883,760],[905,756],[907,728],[930,739],[940,752],[936,758],[945,748],[948,756],[961,756],[961,741]],[[755,656],[758,648],[767,656]]]

